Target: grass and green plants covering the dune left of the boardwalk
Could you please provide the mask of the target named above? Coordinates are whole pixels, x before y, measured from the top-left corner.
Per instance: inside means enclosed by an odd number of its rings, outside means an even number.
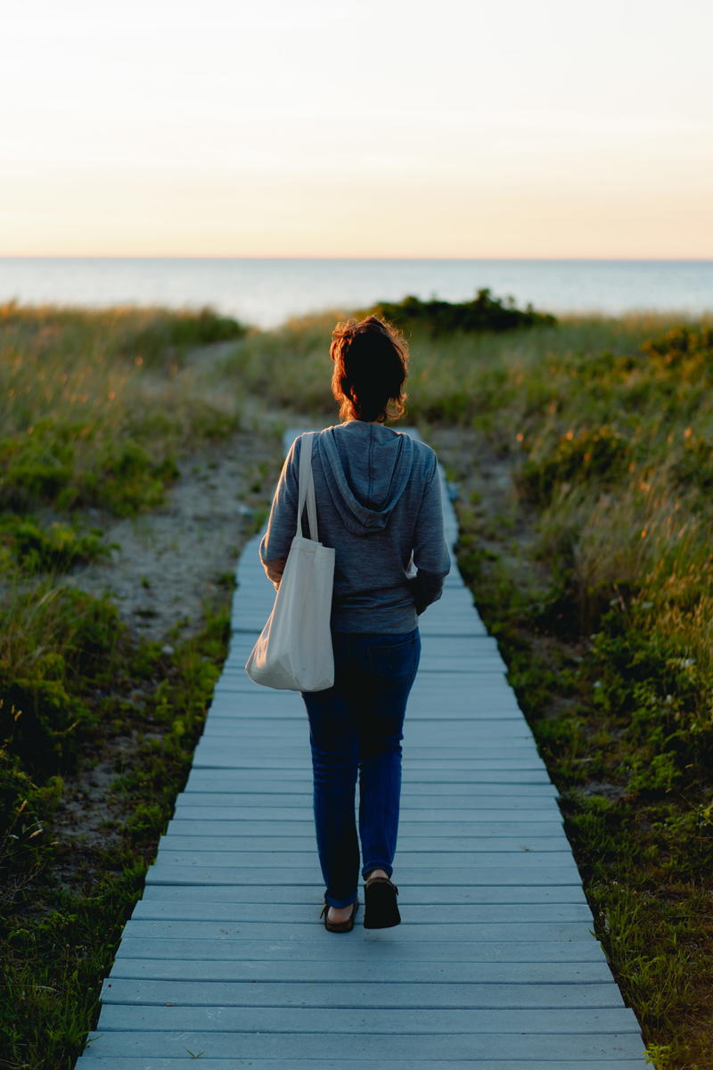
[[[112,519],[249,424],[215,369],[244,334],[211,312],[0,308],[2,1067],[69,1070],[82,1050],[230,637],[232,574],[190,638],[176,611],[161,642],[63,580],[110,568]]]

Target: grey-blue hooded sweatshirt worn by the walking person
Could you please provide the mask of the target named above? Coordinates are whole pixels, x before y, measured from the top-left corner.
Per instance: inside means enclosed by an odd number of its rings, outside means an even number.
[[[297,528],[300,441],[285,458],[260,545],[276,585]],[[312,472],[320,541],[336,551],[331,627],[412,631],[450,570],[435,453],[408,434],[354,419],[315,435]]]

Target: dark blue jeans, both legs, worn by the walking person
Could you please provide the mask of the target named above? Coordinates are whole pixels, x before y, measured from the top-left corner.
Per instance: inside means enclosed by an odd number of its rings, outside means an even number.
[[[303,691],[310,727],[320,866],[330,906],[357,899],[359,839],[363,877],[391,876],[399,829],[401,740],[406,701],[421,654],[418,628],[405,635],[332,632],[335,684]]]

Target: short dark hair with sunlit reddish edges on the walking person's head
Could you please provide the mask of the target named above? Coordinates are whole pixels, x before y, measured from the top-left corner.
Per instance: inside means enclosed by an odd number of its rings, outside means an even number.
[[[403,415],[408,345],[397,327],[376,316],[344,320],[331,333],[329,356],[335,362],[331,393],[342,419]]]

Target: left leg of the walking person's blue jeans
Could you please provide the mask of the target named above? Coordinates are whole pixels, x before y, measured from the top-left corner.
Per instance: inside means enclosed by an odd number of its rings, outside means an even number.
[[[313,809],[320,866],[330,906],[348,906],[357,899],[359,841],[355,795],[359,738],[344,686],[341,647],[335,636],[335,686],[305,691],[312,751]]]

